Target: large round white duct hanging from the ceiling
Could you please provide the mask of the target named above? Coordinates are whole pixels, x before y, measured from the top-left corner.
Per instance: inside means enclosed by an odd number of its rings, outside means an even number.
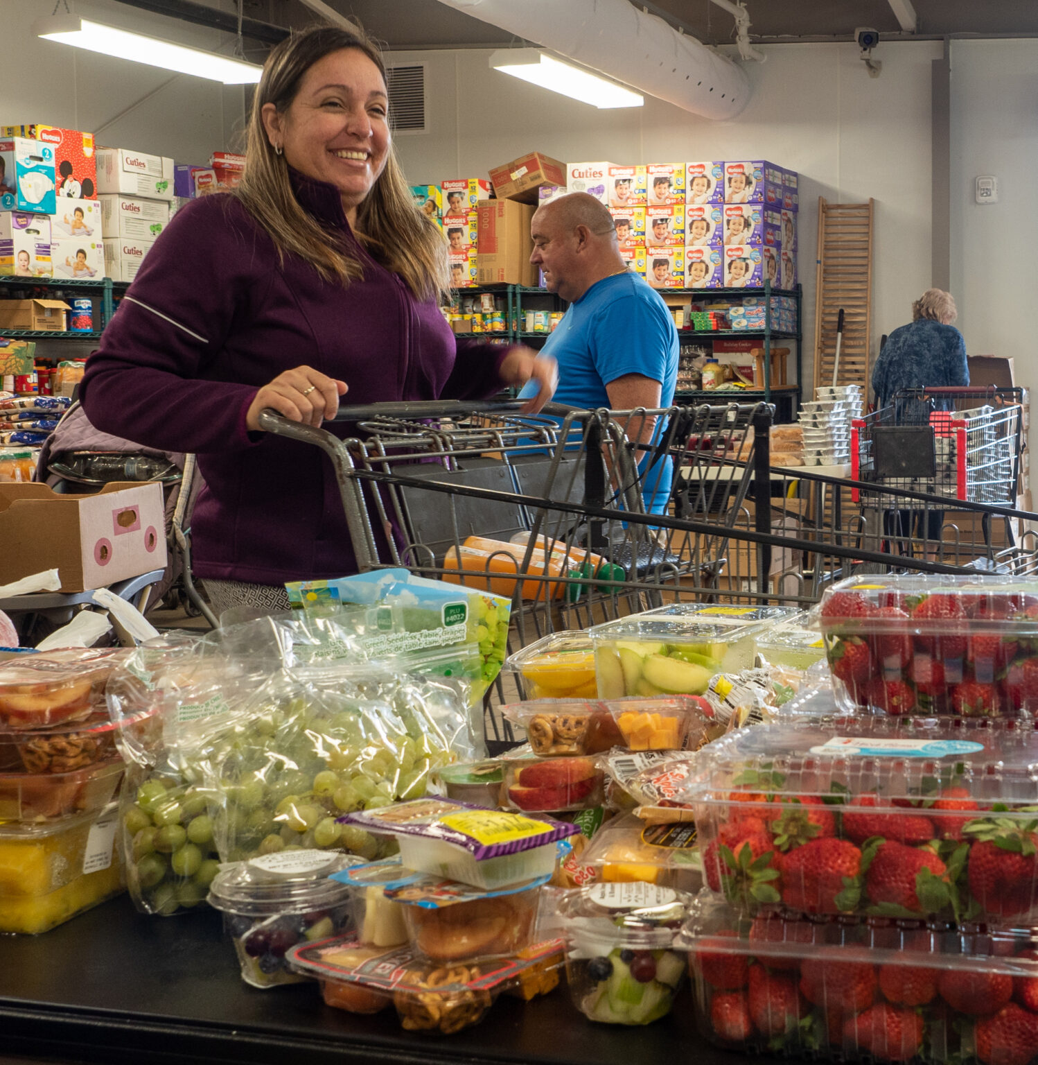
[[[749,99],[741,67],[628,0],[440,2],[706,118],[735,118]]]

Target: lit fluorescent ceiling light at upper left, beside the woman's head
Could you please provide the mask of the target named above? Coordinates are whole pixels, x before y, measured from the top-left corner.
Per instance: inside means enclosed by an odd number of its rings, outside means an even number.
[[[163,67],[178,73],[221,81],[225,85],[254,84],[263,72],[263,68],[254,63],[243,63],[241,60],[203,52],[198,48],[185,48],[169,40],[160,40],[158,37],[129,33],[75,15],[42,18],[34,23],[33,33],[47,40],[59,40],[63,45],[75,45],[102,55],[114,55],[116,59]]]

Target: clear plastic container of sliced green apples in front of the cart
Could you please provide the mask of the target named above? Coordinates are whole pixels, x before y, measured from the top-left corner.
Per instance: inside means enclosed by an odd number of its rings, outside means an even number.
[[[595,625],[598,698],[702,695],[715,674],[749,669],[756,639],[796,615],[792,607],[674,603]]]

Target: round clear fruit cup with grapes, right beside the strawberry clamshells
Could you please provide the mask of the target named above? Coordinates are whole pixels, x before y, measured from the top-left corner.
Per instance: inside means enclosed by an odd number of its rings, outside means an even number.
[[[566,981],[590,1020],[648,1025],[666,1016],[685,977],[674,949],[691,898],[657,884],[594,884],[560,903]]]

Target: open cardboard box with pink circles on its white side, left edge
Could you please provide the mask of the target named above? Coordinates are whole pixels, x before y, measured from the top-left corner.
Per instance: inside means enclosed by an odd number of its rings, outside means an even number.
[[[0,584],[56,569],[63,592],[82,592],[162,570],[162,486],[115,481],[96,495],[60,495],[2,484],[0,543]]]

